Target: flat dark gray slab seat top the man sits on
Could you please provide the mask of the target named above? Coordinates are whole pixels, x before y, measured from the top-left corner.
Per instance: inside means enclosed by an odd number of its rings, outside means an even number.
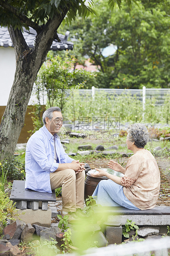
[[[52,193],[37,192],[34,190],[25,190],[25,180],[14,180],[12,192],[10,196],[14,201],[55,201],[56,194],[53,190]]]

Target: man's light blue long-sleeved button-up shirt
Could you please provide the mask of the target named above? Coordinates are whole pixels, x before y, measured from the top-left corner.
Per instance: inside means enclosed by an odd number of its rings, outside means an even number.
[[[26,189],[52,193],[50,173],[58,168],[58,163],[54,162],[54,137],[59,163],[65,164],[74,161],[65,153],[59,136],[56,133],[53,136],[46,126],[43,126],[27,142]]]

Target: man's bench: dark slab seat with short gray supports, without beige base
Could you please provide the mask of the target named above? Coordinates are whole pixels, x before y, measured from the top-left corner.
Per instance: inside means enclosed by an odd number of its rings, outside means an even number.
[[[48,201],[56,202],[56,194],[25,190],[25,180],[14,180],[10,199],[16,204],[15,207],[21,210],[47,210]]]

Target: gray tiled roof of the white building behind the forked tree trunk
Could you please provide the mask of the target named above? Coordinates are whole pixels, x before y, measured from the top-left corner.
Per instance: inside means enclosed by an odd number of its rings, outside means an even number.
[[[57,42],[57,40],[54,40],[51,45],[51,50],[72,50],[73,49],[73,43],[68,42],[68,36],[69,31],[65,33],[65,36],[62,34],[58,34],[58,37],[60,38],[61,42]],[[23,28],[23,36],[26,40],[26,43],[30,48],[34,46],[35,42],[35,36],[37,35],[37,32],[30,28],[30,31],[26,30],[26,28]],[[9,35],[9,31],[7,27],[0,27],[0,46],[2,47],[14,47],[12,40]]]

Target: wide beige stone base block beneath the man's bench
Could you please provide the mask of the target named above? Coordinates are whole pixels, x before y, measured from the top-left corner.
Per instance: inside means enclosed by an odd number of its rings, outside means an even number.
[[[51,210],[43,211],[41,209],[34,211],[32,209],[21,210],[17,209],[17,213],[19,213],[19,218],[25,221],[27,224],[31,225],[37,224],[43,227],[50,228],[51,227]],[[22,214],[25,213],[25,214]],[[18,220],[19,218],[16,218]],[[15,220],[12,220],[12,222]]]

